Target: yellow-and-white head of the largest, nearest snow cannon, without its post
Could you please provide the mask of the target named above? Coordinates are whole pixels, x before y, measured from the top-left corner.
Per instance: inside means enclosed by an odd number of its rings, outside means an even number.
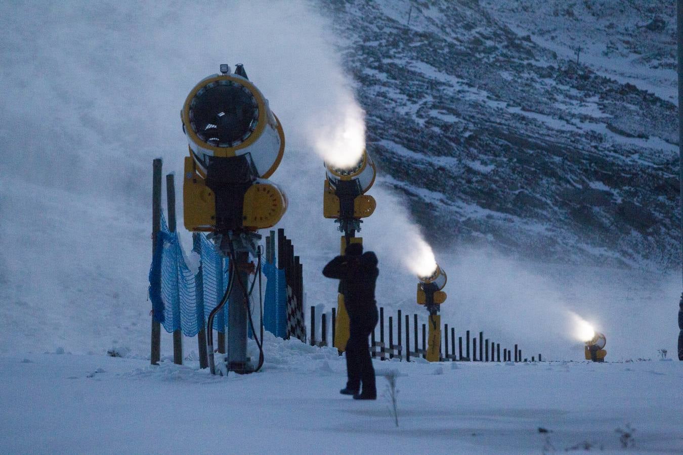
[[[266,180],[285,150],[285,135],[268,100],[234,74],[201,80],[180,117],[190,156],[184,166],[184,222],[190,231],[256,231],[274,226],[287,208],[283,192]]]

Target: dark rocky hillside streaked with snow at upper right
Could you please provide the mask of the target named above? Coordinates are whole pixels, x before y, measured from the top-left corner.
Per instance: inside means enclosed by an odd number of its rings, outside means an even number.
[[[680,263],[673,0],[320,5],[433,244]]]

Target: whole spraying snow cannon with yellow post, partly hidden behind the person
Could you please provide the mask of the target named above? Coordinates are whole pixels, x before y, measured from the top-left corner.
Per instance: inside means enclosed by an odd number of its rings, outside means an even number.
[[[363,244],[362,237],[356,237],[361,230],[361,218],[367,218],[375,211],[376,202],[365,194],[375,183],[376,169],[372,158],[363,150],[361,158],[350,167],[325,164],[325,184],[322,198],[322,214],[339,223],[342,231],[340,254],[352,243]],[[335,321],[334,345],[341,354],[346,349],[349,336],[349,320],[344,295],[337,295],[337,319]]]

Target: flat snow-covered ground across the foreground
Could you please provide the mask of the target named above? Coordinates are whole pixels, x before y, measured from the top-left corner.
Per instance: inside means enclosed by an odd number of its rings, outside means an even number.
[[[338,394],[334,349],[266,336],[266,351],[264,371],[227,378],[170,359],[0,357],[0,452],[613,453],[619,430],[629,452],[683,450],[680,362],[375,361],[400,373],[397,428],[387,396]]]

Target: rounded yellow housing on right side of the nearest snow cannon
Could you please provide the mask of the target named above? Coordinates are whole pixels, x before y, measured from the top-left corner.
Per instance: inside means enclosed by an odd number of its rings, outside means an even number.
[[[257,181],[245,193],[242,225],[246,229],[275,226],[287,210],[287,200],[277,186]]]

